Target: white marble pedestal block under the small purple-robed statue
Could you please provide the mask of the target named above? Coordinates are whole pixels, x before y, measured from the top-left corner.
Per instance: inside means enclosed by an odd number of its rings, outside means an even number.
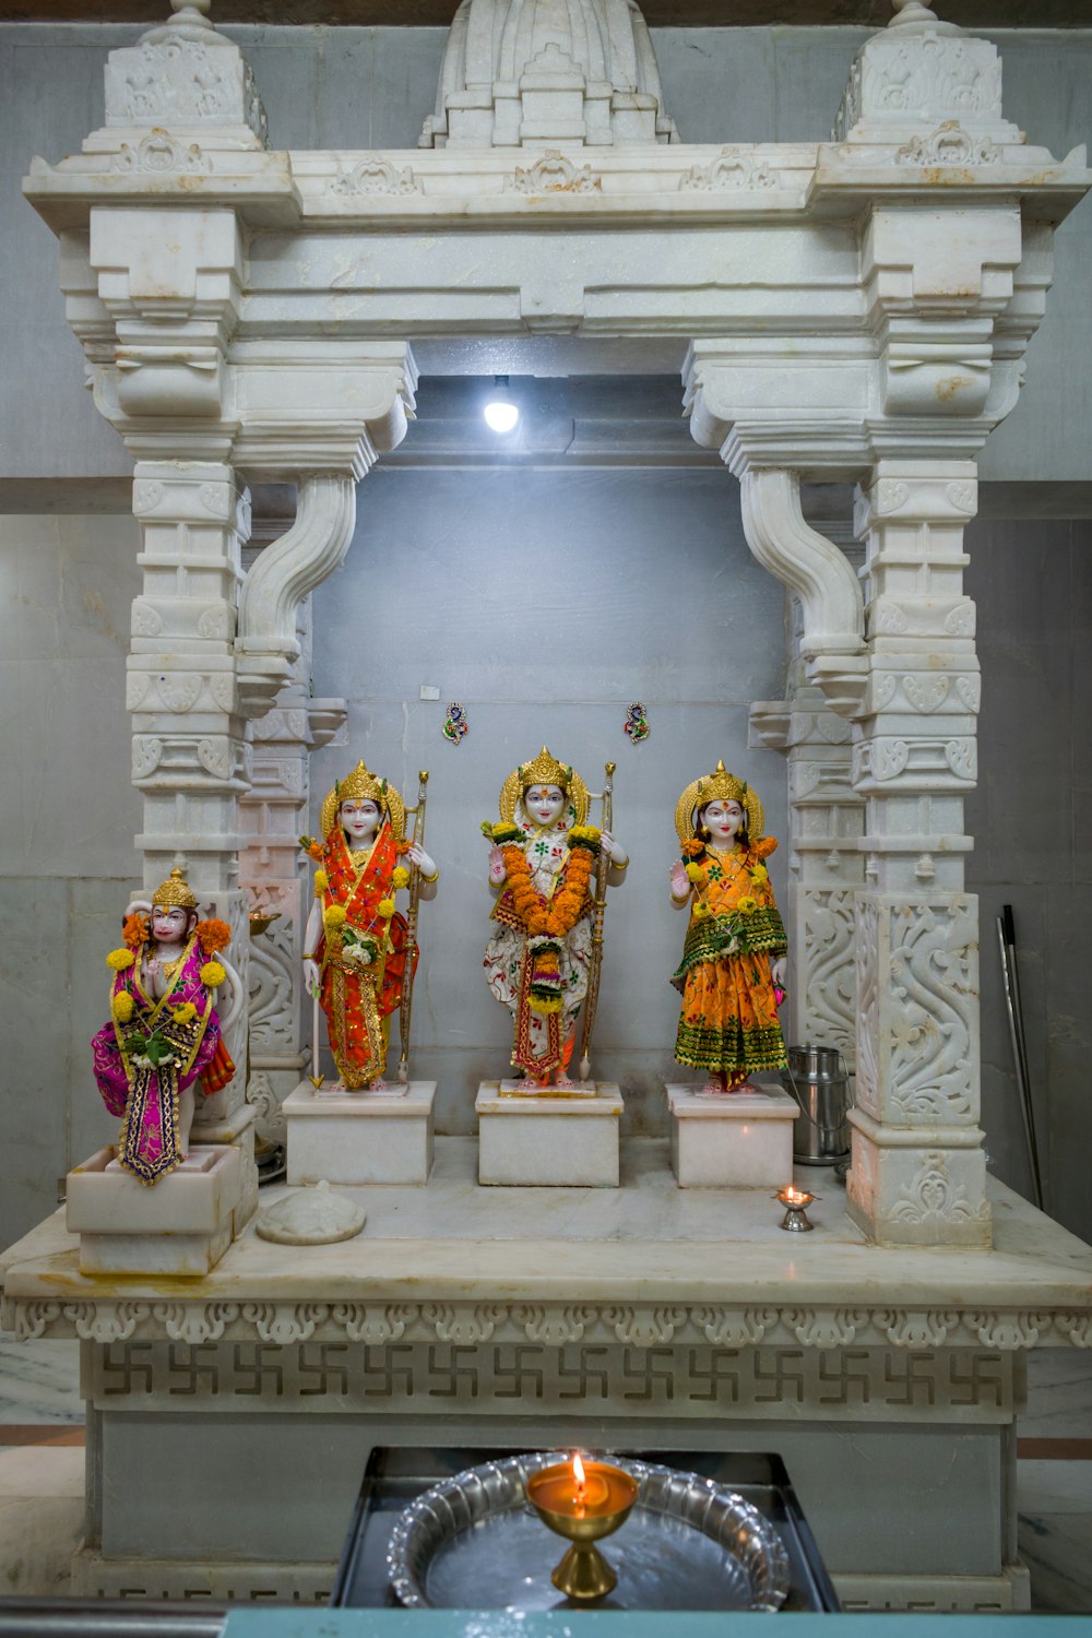
[[[80,1237],[82,1274],[201,1278],[232,1242],[242,1199],[242,1153],[195,1143],[187,1160],[151,1188],[100,1148],[69,1173],[65,1222]]]

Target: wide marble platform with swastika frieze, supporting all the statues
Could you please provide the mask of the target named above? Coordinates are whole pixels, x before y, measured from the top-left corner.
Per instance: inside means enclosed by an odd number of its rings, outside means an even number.
[[[761,1191],[679,1189],[665,1142],[622,1145],[620,1189],[480,1188],[475,1161],[439,1140],[427,1189],[347,1191],[362,1238],[287,1255],[249,1228],[182,1291],[80,1274],[62,1214],[7,1253],[3,1324],[80,1338],[77,1589],[309,1597],[368,1440],[442,1437],[773,1448],[846,1602],[1027,1605],[1023,1360],[1087,1358],[1087,1247],[999,1184],[994,1248],[951,1253],[868,1243],[837,1188],[786,1235]],[[138,1469],[169,1481],[136,1494]]]

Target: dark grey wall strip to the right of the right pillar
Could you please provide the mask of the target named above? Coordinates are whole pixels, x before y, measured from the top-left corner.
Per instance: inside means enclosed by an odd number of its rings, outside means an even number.
[[[995,921],[1012,904],[1048,1207],[1092,1238],[1092,524],[976,523],[979,788],[968,801],[981,894],[982,1124],[994,1171],[1030,1176]]]

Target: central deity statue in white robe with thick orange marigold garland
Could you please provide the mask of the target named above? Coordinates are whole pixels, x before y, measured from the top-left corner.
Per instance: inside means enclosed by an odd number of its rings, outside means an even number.
[[[501,788],[501,822],[483,824],[498,924],[485,952],[490,989],[512,1014],[511,1061],[529,1084],[571,1089],[576,1016],[593,962],[594,870],[622,881],[629,853],[609,830],[586,824],[584,781],[547,747]]]

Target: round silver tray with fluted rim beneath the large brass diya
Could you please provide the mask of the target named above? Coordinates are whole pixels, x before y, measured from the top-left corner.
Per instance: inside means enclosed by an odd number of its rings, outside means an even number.
[[[486,1461],[444,1479],[398,1518],[386,1568],[409,1609],[566,1605],[550,1584],[565,1541],[526,1500],[527,1477],[568,1461],[535,1451]],[[602,1543],[619,1584],[599,1609],[776,1610],[789,1590],[781,1536],[756,1507],[712,1479],[657,1463],[609,1458],[632,1473],[640,1495]]]

